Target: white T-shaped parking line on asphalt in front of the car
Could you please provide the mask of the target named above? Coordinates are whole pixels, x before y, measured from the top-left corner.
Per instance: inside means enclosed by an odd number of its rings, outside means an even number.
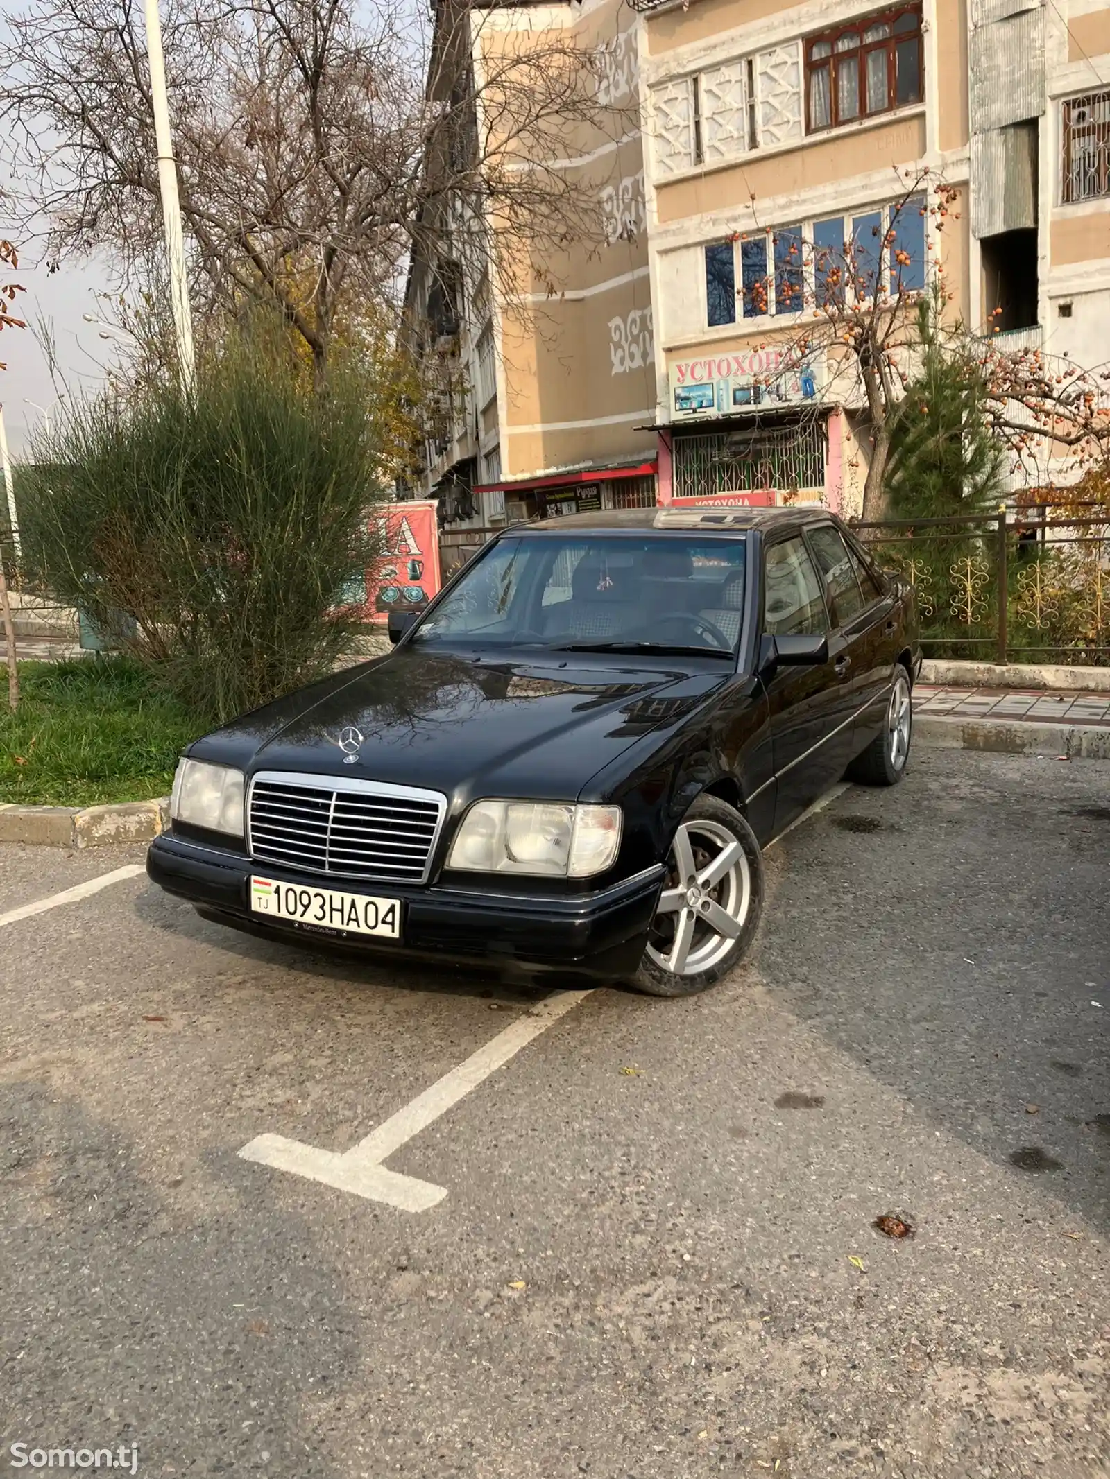
[[[244,1161],[258,1161],[281,1171],[292,1171],[295,1176],[306,1176],[326,1186],[354,1192],[355,1197],[386,1202],[400,1211],[428,1211],[444,1199],[447,1188],[422,1182],[414,1176],[400,1176],[386,1170],[382,1162],[465,1099],[540,1032],[546,1032],[554,1022],[585,1001],[593,989],[596,988],[559,991],[540,1001],[349,1151],[342,1154],[321,1151],[300,1140],[287,1140],[281,1134],[259,1134],[238,1154]]]

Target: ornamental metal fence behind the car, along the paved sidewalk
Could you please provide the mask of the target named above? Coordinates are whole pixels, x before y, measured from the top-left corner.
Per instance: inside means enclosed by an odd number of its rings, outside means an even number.
[[[854,522],[913,584],[926,657],[1110,666],[1110,515]]]

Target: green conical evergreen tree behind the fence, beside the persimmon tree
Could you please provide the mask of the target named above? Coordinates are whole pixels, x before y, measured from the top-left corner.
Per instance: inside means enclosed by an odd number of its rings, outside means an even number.
[[[937,519],[998,504],[1005,450],[984,417],[971,349],[941,324],[940,294],[918,305],[921,367],[894,413],[887,473],[894,518]]]

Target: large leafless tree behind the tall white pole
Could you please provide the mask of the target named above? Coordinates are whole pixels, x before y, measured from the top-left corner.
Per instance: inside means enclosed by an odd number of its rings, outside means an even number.
[[[0,160],[52,259],[107,247],[124,280],[161,217],[136,0],[33,0],[0,46]],[[336,336],[395,308],[413,244],[481,251],[585,229],[586,201],[534,161],[605,115],[596,59],[499,7],[172,0],[164,49],[197,317],[277,308],[323,383]],[[484,33],[497,30],[496,44]],[[475,55],[481,67],[474,67]],[[6,142],[3,142],[6,141]],[[444,243],[445,246],[440,246]]]

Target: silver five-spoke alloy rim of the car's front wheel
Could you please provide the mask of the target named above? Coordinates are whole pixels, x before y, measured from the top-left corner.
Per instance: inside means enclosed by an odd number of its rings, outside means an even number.
[[[675,976],[709,970],[740,936],[750,904],[752,873],[736,836],[721,822],[682,822],[647,952]]]

